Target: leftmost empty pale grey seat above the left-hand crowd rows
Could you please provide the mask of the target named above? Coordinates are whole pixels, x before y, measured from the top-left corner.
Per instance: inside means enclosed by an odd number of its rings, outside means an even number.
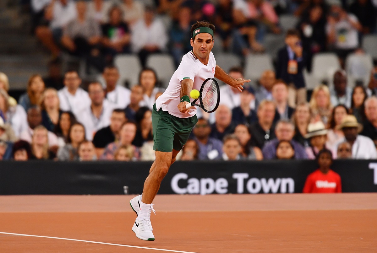
[[[136,55],[118,55],[114,59],[114,64],[119,69],[122,84],[128,82],[129,87],[132,87],[139,82],[141,65]]]

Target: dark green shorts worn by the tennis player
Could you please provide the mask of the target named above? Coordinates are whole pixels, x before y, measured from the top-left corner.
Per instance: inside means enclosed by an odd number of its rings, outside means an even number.
[[[167,111],[162,111],[162,108],[157,111],[154,104],[152,110],[153,149],[162,152],[181,150],[189,139],[196,122],[198,122],[196,115],[181,119]]]

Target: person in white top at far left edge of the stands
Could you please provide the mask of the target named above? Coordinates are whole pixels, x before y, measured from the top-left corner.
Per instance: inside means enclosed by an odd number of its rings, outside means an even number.
[[[9,123],[17,137],[21,132],[28,130],[28,120],[26,112],[21,105],[11,106],[9,104],[9,95],[5,90],[0,89],[0,111],[4,116],[4,122]]]

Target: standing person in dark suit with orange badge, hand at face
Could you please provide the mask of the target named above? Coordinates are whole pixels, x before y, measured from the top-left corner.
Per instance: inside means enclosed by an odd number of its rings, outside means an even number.
[[[300,34],[295,29],[290,29],[285,35],[285,44],[277,55],[276,78],[283,79],[288,84],[288,104],[296,107],[297,104],[306,102],[307,91],[302,70],[306,65],[303,54]]]

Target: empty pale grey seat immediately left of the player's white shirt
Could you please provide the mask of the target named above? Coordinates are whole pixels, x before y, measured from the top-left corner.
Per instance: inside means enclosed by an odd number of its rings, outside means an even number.
[[[175,71],[174,60],[171,55],[150,55],[146,66],[156,71],[157,78],[161,82],[162,87],[166,88],[169,85],[170,78],[172,78]]]

